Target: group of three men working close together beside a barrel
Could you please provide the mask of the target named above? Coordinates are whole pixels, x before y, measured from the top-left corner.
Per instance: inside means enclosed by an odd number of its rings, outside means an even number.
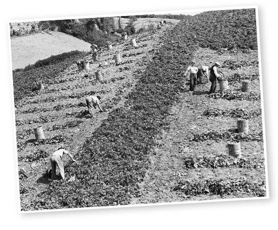
[[[211,89],[209,91],[209,94],[212,94],[215,92],[216,89],[216,83],[217,79],[220,77],[220,73],[218,71],[218,68],[220,66],[219,62],[215,62],[212,67],[209,66],[195,66],[196,62],[191,61],[190,66],[186,69],[186,72],[184,73],[184,77],[186,77],[186,74],[189,72],[189,91],[195,91],[196,90],[196,83],[197,79],[199,79],[200,84],[205,83],[206,79],[210,82],[212,82]]]

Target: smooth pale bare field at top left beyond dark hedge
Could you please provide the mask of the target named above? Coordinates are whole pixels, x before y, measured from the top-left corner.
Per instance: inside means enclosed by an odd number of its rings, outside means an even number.
[[[61,32],[11,38],[12,67],[24,68],[38,60],[72,50],[90,51],[90,44]]]

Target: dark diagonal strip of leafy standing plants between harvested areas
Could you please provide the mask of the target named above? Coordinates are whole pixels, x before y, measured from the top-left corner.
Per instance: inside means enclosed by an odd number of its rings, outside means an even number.
[[[126,104],[110,113],[75,155],[66,181],[54,181],[27,210],[126,205],[138,195],[152,148],[167,126],[179,98],[182,71],[196,47],[182,45],[183,25],[164,38],[164,46],[142,74]],[[74,180],[70,177],[74,176]]]

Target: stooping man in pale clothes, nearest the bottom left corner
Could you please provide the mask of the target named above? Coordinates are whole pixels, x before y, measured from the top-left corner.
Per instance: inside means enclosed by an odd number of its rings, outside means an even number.
[[[53,181],[56,175],[56,164],[59,167],[60,175],[62,179],[65,179],[65,171],[64,171],[64,165],[63,165],[63,154],[67,154],[73,162],[76,160],[73,159],[72,155],[66,151],[63,147],[59,148],[57,151],[55,151],[52,156],[50,157],[50,163],[51,163],[51,168],[52,168],[52,176],[51,180]]]

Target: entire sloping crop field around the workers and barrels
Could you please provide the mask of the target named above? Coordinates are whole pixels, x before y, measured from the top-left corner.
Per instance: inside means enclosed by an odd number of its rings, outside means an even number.
[[[214,18],[225,22],[236,15],[223,12],[213,13]],[[251,10],[237,12],[236,31],[230,34],[241,32],[246,13],[252,15]],[[205,23],[204,18],[213,17],[204,13],[136,35],[137,48],[114,44],[113,50],[101,51],[99,61],[88,55],[89,70],[78,71],[73,63],[43,91],[16,102],[21,211],[266,197],[253,31],[248,31],[248,43],[238,36],[237,42],[228,42],[229,49],[226,40],[233,34],[221,37],[220,31],[216,49],[213,36],[206,40],[198,31],[184,33],[203,26],[196,20]],[[113,60],[118,52],[120,65]],[[217,85],[209,95],[206,81],[189,91],[183,74],[192,59],[196,66],[220,62],[229,89],[221,93]],[[99,67],[104,60],[108,65]],[[96,70],[102,71],[103,82],[95,79]],[[251,92],[242,92],[244,80],[250,81]],[[87,95],[101,96],[103,113],[86,115]],[[249,120],[248,133],[237,131],[242,117]],[[47,139],[35,141],[33,128],[41,125]],[[240,141],[239,159],[229,156],[232,139]],[[60,145],[78,162],[70,164],[65,157],[66,180],[51,182],[49,157]]]

